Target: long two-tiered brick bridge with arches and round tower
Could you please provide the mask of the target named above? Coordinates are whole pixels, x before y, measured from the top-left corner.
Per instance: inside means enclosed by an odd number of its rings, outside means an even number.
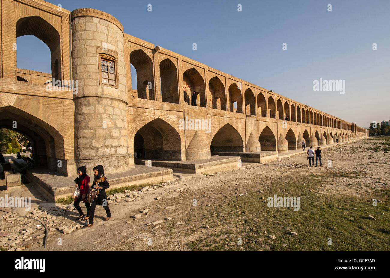
[[[37,163],[64,176],[81,165],[129,170],[138,150],[186,161],[367,137],[353,122],[128,35],[105,12],[2,0],[0,14],[0,127],[28,136]],[[17,68],[23,35],[49,47],[51,73]]]

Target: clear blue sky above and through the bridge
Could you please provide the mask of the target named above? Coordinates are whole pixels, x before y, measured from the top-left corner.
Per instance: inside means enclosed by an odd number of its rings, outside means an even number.
[[[358,126],[389,119],[389,0],[58,2],[108,12],[125,33]],[[28,37],[18,38],[18,67],[51,72],[48,47]],[[345,94],[313,91],[320,77],[346,80]]]

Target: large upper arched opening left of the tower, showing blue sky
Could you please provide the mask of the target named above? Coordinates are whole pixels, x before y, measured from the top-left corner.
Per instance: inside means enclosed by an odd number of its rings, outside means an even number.
[[[44,65],[42,61],[44,61],[43,57],[37,56],[35,47],[41,47],[34,38],[31,38],[32,35],[42,42],[44,42],[50,49],[50,67],[44,66],[43,68],[39,68],[40,65]],[[23,38],[19,38],[22,36],[26,36]],[[17,65],[20,67],[30,67],[30,65],[36,65],[34,67],[34,71],[42,71],[42,72],[51,72],[51,78],[55,78],[55,80],[62,79],[62,71],[61,71],[61,40],[58,31],[47,21],[45,21],[42,17],[39,16],[29,16],[20,18],[16,22],[16,43],[20,54],[17,54]],[[18,39],[19,38],[19,39]],[[23,47],[25,45],[26,47]],[[18,59],[19,57],[19,59]],[[49,70],[50,69],[50,70]],[[23,75],[23,70],[17,69],[17,75],[21,78],[27,80],[26,76]],[[28,76],[31,76],[28,74]],[[36,80],[28,80],[28,82],[45,84],[48,79],[47,76],[34,77]]]

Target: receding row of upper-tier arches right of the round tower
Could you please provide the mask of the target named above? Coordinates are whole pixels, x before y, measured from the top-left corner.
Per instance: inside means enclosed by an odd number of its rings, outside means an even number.
[[[155,92],[148,86],[149,82],[154,84],[152,59],[143,50],[137,49],[130,54],[130,64],[134,68],[131,75],[137,76],[137,78],[133,79],[137,80],[138,98],[155,100]],[[176,65],[170,58],[166,58],[160,62],[159,68],[161,101],[180,103],[179,94],[177,93],[179,82],[177,80]],[[186,70],[183,73],[182,80],[183,99],[188,105],[191,105],[191,96],[196,91],[199,93],[197,106],[200,107],[210,107],[218,110],[259,115],[261,117],[330,128],[351,129],[351,125],[347,122],[314,111],[306,106],[301,107],[301,105],[291,103],[290,101],[285,101],[283,104],[281,98],[273,95],[266,100],[263,93],[257,94],[256,107],[255,94],[252,89],[246,89],[242,98],[240,86],[234,82],[230,84],[226,94],[223,79],[219,76],[214,76],[206,84],[202,75],[195,68]],[[209,96],[206,96],[205,85],[208,85]]]

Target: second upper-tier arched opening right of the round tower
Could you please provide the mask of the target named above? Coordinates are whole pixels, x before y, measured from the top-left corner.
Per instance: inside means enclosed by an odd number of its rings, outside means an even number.
[[[160,63],[161,101],[179,103],[179,87],[177,85],[177,69],[170,59]]]

